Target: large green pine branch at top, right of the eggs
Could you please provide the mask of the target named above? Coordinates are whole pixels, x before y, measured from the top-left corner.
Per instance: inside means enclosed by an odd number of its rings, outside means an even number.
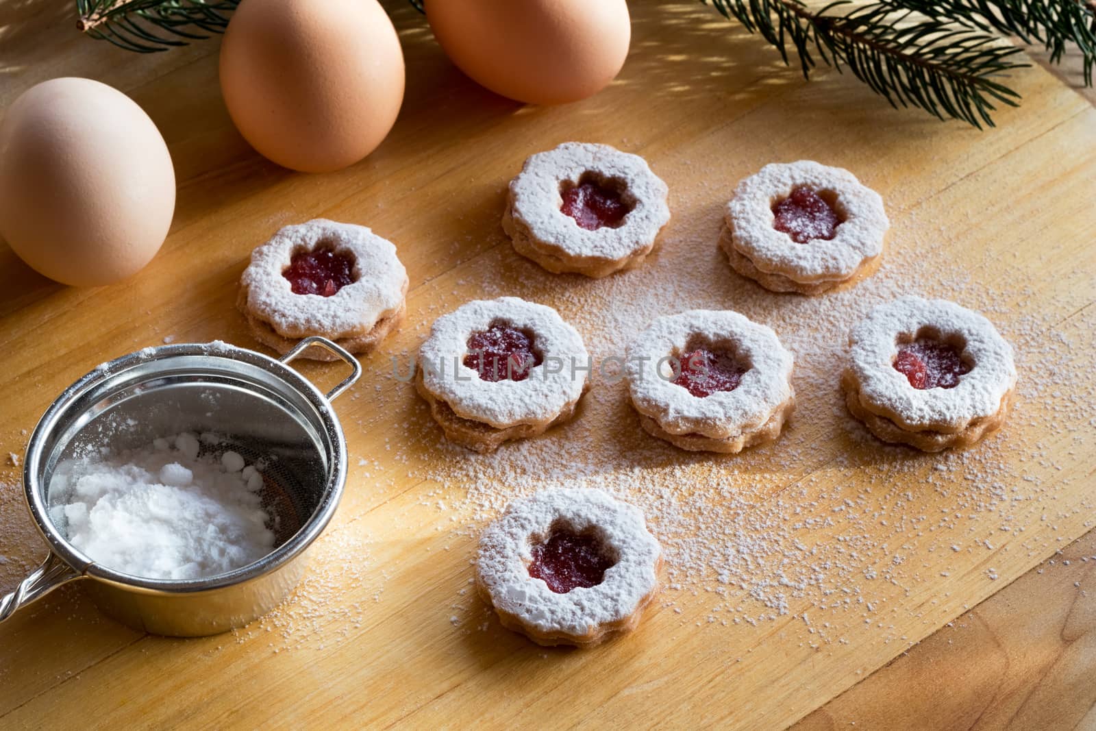
[[[786,64],[790,42],[804,78],[817,65],[813,52],[838,71],[847,67],[892,106],[915,106],[979,128],[993,126],[997,104],[1017,104],[1019,94],[995,78],[1027,66],[1014,58],[1018,48],[981,28],[897,10],[890,1],[850,7],[838,0],[812,10],[798,0],[710,0],[776,46]]]

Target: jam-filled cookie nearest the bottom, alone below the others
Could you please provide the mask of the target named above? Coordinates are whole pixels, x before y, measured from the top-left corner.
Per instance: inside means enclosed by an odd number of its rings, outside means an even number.
[[[552,489],[515,500],[483,532],[476,583],[503,627],[591,647],[636,628],[661,566],[639,509],[601,490]]]

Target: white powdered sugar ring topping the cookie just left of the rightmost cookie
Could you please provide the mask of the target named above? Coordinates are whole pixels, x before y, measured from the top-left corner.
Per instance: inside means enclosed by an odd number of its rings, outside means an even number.
[[[697,398],[667,378],[665,358],[689,341],[730,347],[750,369],[732,391]],[[628,347],[632,402],[671,434],[699,433],[720,439],[761,426],[791,398],[791,353],[772,328],[727,310],[688,310],[657,319]]]

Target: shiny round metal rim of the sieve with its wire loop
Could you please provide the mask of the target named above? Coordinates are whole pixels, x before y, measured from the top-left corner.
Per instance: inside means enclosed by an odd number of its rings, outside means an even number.
[[[311,381],[289,367],[289,363],[298,357],[308,347],[323,347],[334,353],[353,368],[353,372],[338,386],[329,392],[323,393]],[[312,515],[304,523],[300,529],[284,544],[267,553],[265,557],[241,567],[235,571],[209,576],[207,579],[192,580],[170,580],[170,579],[145,579],[133,576],[110,569],[94,562],[89,557],[73,548],[68,540],[54,526],[49,519],[48,506],[45,504],[45,490],[38,479],[42,471],[43,459],[48,458],[44,454],[44,445],[47,435],[52,434],[60,425],[60,416],[66,409],[81,395],[94,388],[109,378],[113,378],[125,370],[137,365],[144,365],[156,361],[165,361],[178,356],[203,356],[210,362],[217,359],[237,361],[256,366],[278,378],[286,386],[295,389],[299,395],[316,409],[323,424],[331,444],[329,455],[329,477],[324,486],[322,498],[313,511]],[[128,591],[137,591],[160,595],[191,594],[206,592],[210,590],[224,589],[246,583],[266,573],[270,573],[286,562],[301,553],[315,541],[334,515],[335,509],[342,498],[346,483],[346,439],[335,415],[331,401],[350,388],[362,375],[362,365],[353,355],[326,338],[306,338],[301,340],[292,351],[281,358],[272,358],[256,351],[248,350],[237,345],[215,341],[213,343],[180,343],[161,345],[158,347],[146,347],[141,351],[123,355],[107,363],[101,364],[91,372],[84,374],[71,386],[66,388],[46,409],[46,412],[38,420],[34,431],[31,433],[26,448],[26,457],[23,464],[23,488],[27,507],[34,519],[35,526],[49,545],[52,556],[39,569],[50,574],[53,579],[60,579],[55,585],[76,578],[88,576],[111,584],[125,587]],[[60,559],[65,566],[58,566],[54,560]],[[66,571],[66,568],[69,571]],[[2,614],[2,613],[0,613]]]

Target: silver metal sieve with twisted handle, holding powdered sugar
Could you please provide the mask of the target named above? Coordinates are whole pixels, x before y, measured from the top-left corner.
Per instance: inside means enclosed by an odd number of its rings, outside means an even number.
[[[322,393],[288,367],[308,347],[330,351],[353,373]],[[46,410],[27,445],[23,487],[50,553],[0,599],[0,623],[77,579],[91,580],[85,584],[106,614],[157,635],[215,635],[272,609],[304,574],[305,549],[342,496],[346,443],[331,401],[361,375],[361,364],[345,350],[307,338],[281,359],[224,343],[145,349],[80,378]],[[180,432],[217,435],[203,442],[203,450],[232,449],[260,466],[274,549],[228,573],[175,581],[121,573],[69,544],[64,513],[49,510],[58,462],[102,447],[146,446]]]

